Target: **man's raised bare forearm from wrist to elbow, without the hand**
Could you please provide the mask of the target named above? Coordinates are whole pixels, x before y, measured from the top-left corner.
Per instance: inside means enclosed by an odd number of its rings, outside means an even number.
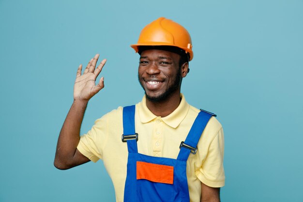
[[[54,165],[58,169],[74,167],[73,160],[80,140],[80,128],[88,101],[74,100],[59,135]]]

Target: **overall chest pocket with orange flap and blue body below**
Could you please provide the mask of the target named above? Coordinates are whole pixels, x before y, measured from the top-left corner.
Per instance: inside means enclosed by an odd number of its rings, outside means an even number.
[[[173,202],[174,167],[136,162],[138,202]]]

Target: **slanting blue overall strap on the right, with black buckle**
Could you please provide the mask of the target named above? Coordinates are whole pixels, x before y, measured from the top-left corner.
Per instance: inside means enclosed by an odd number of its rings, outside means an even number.
[[[178,160],[187,161],[190,153],[196,154],[197,144],[200,136],[212,116],[213,115],[211,113],[202,110],[198,113],[197,118],[186,137],[186,140],[181,142],[180,152],[177,157]]]

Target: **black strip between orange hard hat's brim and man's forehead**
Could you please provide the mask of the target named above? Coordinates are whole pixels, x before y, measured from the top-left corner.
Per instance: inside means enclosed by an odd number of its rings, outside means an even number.
[[[138,47],[138,53],[139,53],[139,55],[141,55],[141,53],[144,50],[150,50],[150,49],[166,50],[166,51],[170,51],[170,52],[179,54],[181,56],[180,61],[179,61],[179,66],[180,67],[185,62],[189,63],[189,58],[190,58],[189,53],[186,53],[185,50],[183,50],[179,47],[173,47],[173,46],[139,46]],[[188,72],[189,72],[189,68],[188,68]]]

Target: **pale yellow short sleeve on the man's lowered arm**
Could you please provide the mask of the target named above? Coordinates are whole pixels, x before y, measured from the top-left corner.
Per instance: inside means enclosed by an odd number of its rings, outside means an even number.
[[[202,166],[196,171],[197,178],[205,185],[222,187],[225,185],[223,168],[224,132],[223,128],[214,136]]]

